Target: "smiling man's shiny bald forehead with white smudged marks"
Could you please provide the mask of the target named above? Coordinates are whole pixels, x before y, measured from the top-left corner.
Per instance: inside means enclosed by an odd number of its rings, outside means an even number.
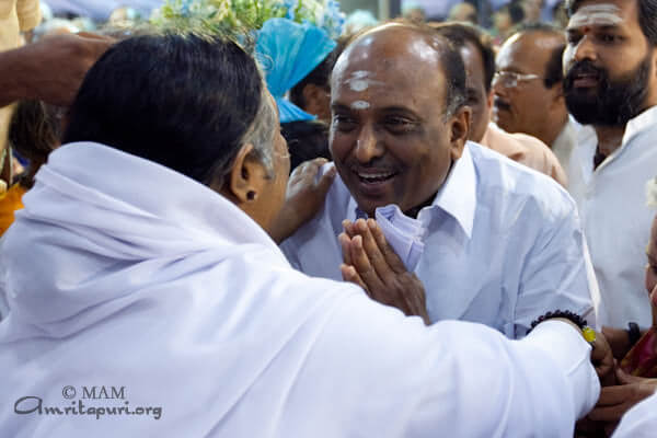
[[[439,49],[438,49],[439,50]],[[424,35],[404,28],[366,34],[339,57],[332,76],[334,99],[442,96],[440,54]]]

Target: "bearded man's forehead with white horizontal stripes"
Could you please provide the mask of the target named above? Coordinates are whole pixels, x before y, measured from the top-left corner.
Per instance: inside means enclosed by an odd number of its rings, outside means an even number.
[[[584,1],[568,20],[566,30],[581,31],[607,26],[638,26],[637,1]]]

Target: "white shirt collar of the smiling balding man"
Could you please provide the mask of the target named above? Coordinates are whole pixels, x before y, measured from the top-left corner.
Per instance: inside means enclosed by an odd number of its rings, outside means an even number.
[[[453,163],[447,180],[438,191],[431,205],[423,208],[422,211],[426,209],[431,211],[435,209],[443,210],[457,220],[470,239],[476,207],[476,173],[469,143],[470,141],[463,148],[461,158]],[[367,218],[367,215],[358,208],[356,199],[350,196],[347,219],[355,221],[359,218]]]

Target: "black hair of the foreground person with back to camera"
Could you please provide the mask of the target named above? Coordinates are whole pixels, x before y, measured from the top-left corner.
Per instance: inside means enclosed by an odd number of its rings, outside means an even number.
[[[230,170],[264,95],[255,61],[231,41],[137,36],[88,72],[64,142],[100,142],[209,184]]]

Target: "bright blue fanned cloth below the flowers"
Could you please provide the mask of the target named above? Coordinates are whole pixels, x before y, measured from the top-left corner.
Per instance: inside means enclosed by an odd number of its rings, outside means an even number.
[[[315,118],[284,96],[314,70],[335,46],[336,43],[324,30],[308,22],[270,19],[258,31],[256,57],[265,70],[267,88],[278,104],[280,123]]]

